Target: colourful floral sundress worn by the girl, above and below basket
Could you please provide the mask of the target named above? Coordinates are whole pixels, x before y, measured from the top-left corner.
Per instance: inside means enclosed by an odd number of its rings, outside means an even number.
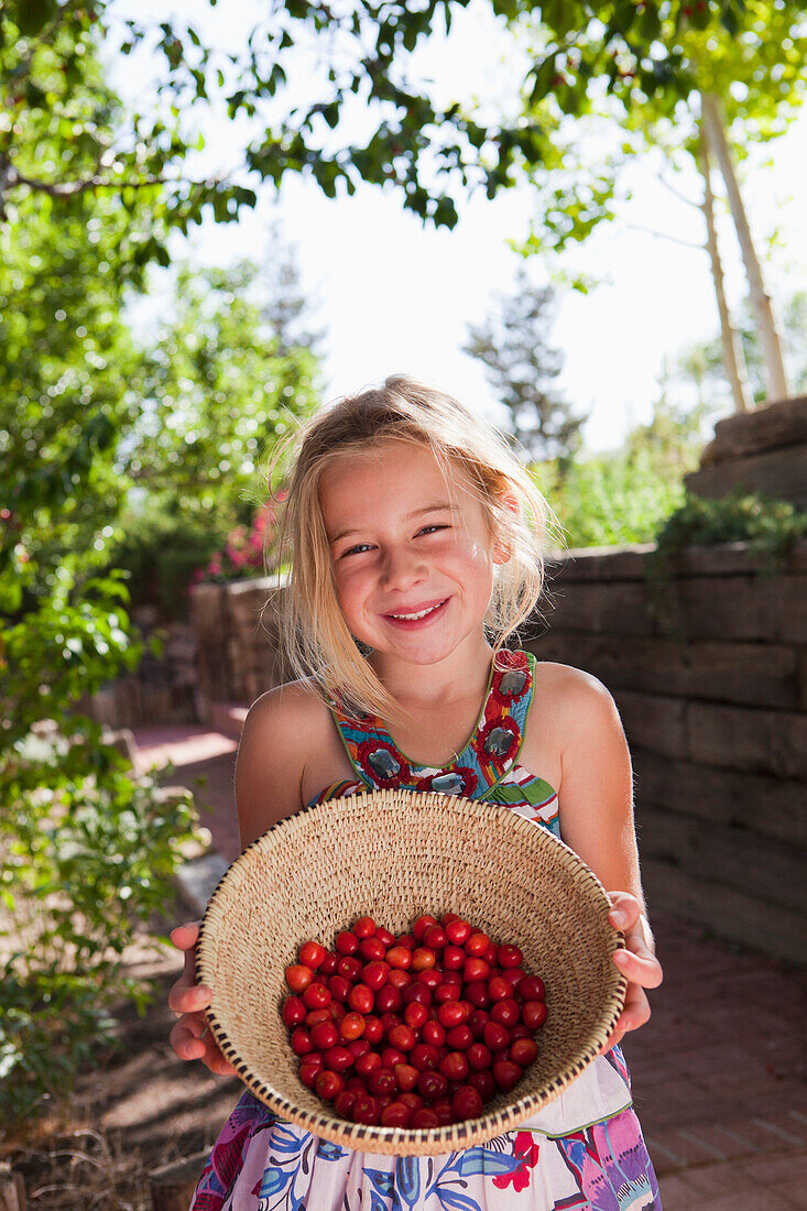
[[[356,777],[313,803],[366,790],[440,791],[505,804],[560,836],[557,794],[519,764],[534,656],[499,653],[485,706],[456,762],[410,761],[376,716],[331,704]],[[227,1120],[189,1211],[660,1211],[619,1046],[597,1056],[549,1106],[483,1144],[436,1157],[354,1152],[277,1118],[245,1092]]]

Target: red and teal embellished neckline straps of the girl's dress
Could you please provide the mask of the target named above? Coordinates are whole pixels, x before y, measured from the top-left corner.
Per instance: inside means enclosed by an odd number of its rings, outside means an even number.
[[[475,799],[490,794],[519,756],[532,701],[534,664],[530,652],[497,654],[474,733],[457,759],[442,768],[420,765],[406,757],[378,716],[353,716],[338,699],[333,700],[334,722],[364,785],[372,791],[402,787]]]

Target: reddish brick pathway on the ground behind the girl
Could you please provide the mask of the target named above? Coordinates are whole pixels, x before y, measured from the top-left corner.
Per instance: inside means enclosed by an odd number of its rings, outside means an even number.
[[[167,781],[207,779],[202,823],[236,857],[236,742],[193,725],[134,735],[142,768],[170,757]],[[807,1209],[805,974],[652,917],[664,983],[625,1054],[664,1211]]]

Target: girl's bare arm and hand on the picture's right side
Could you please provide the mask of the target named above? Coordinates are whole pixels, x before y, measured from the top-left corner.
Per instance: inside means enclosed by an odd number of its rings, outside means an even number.
[[[614,963],[628,980],[625,1008],[608,1046],[649,1018],[645,988],[662,982],[639,872],[634,825],[633,770],[616,702],[606,687],[567,668],[557,701],[561,735],[561,836],[609,894],[609,920],[625,936]]]

